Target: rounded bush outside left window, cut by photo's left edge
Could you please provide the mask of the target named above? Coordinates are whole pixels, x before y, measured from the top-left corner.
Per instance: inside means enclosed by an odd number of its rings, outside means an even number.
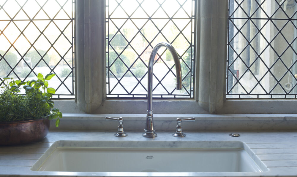
[[[5,51],[0,50],[0,53],[4,55]],[[14,67],[18,62],[18,57],[12,52],[7,52],[4,56],[5,60],[10,64],[10,66]],[[0,61],[0,73],[8,74],[11,68],[7,65],[7,63],[2,59]]]

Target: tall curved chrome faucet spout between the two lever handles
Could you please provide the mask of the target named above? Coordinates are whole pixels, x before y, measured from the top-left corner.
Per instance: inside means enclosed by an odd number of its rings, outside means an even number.
[[[146,127],[144,129],[144,133],[142,134],[144,137],[153,138],[157,136],[157,133],[155,133],[154,128],[154,120],[153,120],[153,112],[152,112],[152,92],[153,92],[153,65],[154,65],[154,58],[157,54],[157,51],[160,47],[166,47],[174,60],[175,63],[175,69],[176,69],[176,90],[182,89],[182,83],[181,83],[181,63],[179,62],[179,57],[176,52],[176,50],[173,48],[171,44],[161,42],[157,44],[153,50],[151,51],[151,55],[149,57],[149,64],[148,64],[148,110],[146,114]]]

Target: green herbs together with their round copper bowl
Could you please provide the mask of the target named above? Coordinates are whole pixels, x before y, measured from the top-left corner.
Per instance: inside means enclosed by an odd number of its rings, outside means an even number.
[[[0,93],[0,145],[15,145],[41,140],[48,133],[50,120],[60,124],[62,113],[53,108],[48,80],[56,74],[37,75],[37,80],[22,82],[4,77]],[[22,88],[21,88],[22,87]],[[25,95],[19,94],[21,89]]]

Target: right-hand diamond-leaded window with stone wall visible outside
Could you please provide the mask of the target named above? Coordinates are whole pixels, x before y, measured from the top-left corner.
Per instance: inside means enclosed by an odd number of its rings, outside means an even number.
[[[226,98],[296,98],[297,1],[229,0]]]

